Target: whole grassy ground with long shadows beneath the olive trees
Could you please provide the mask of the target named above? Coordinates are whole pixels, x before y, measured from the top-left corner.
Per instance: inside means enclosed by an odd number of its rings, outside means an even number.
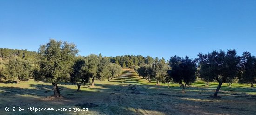
[[[133,70],[123,69],[121,76],[111,81],[95,81],[94,87],[81,86],[76,92],[74,85],[61,83],[58,86],[64,99],[51,100],[53,94],[50,83],[22,81],[20,84],[0,83],[1,115],[198,115],[230,114],[255,115],[256,88],[249,84],[232,84],[232,88],[222,85],[221,99],[211,100],[217,83],[198,80],[191,87],[182,88],[178,84],[155,85],[138,77]],[[92,103],[92,104],[90,104]],[[80,105],[78,105],[80,104]],[[77,106],[76,106],[77,105]],[[5,111],[6,107],[24,107],[24,111]],[[88,111],[27,111],[34,108],[88,108]]]

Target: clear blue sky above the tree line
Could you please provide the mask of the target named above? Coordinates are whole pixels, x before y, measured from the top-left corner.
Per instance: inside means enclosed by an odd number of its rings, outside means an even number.
[[[37,51],[50,38],[80,55],[256,55],[256,0],[0,0],[1,48]]]

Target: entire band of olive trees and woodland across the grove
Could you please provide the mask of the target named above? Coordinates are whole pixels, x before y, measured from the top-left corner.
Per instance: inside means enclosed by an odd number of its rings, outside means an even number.
[[[151,82],[152,79],[162,83],[175,82],[183,87],[191,85],[196,80],[198,73],[206,83],[218,82],[219,85],[213,97],[223,83],[256,83],[256,57],[249,52],[244,52],[239,56],[236,50],[212,51],[208,54],[198,54],[197,59],[179,56],[171,57],[166,61],[157,57],[142,56],[117,56],[102,57],[101,54],[89,55],[87,57],[77,57],[78,49],[76,45],[67,42],[50,40],[47,44],[41,45],[36,59],[31,63],[26,58],[26,53],[22,57],[9,60],[3,69],[0,69],[0,77],[15,80],[27,80],[33,77],[36,81],[44,80],[52,83],[54,97],[61,97],[57,83],[62,81],[71,82],[78,86],[89,83],[94,85],[94,79],[112,79],[121,73],[121,66],[135,67],[135,71]]]

